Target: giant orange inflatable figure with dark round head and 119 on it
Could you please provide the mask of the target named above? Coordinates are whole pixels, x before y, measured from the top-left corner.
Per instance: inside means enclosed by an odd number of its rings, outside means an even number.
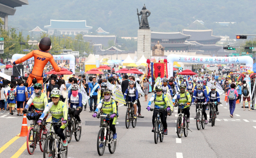
[[[34,67],[29,74],[27,78],[27,83],[28,86],[32,83],[32,80],[34,78],[37,79],[37,83],[43,84],[43,72],[46,64],[48,61],[52,64],[54,70],[56,72],[60,72],[61,68],[64,67],[65,63],[62,63],[60,66],[58,66],[55,61],[53,56],[48,52],[49,50],[52,49],[51,46],[51,39],[48,37],[44,37],[39,43],[38,43],[39,50],[33,50],[29,52],[26,56],[19,58],[18,60],[12,61],[11,63],[13,65],[20,64],[24,61],[26,61],[29,58],[34,57],[35,59],[35,64]]]

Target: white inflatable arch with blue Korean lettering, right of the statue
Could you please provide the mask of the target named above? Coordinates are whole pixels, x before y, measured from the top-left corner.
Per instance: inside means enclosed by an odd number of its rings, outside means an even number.
[[[168,76],[173,76],[174,61],[199,64],[246,64],[246,70],[253,69],[253,58],[249,56],[238,57],[200,57],[171,54],[167,56]]]

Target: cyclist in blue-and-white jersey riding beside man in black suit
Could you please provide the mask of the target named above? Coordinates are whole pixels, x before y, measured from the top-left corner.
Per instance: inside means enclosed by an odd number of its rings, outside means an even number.
[[[135,82],[133,80],[129,81],[129,87],[124,93],[124,99],[133,102],[134,115],[133,118],[137,117],[137,100],[138,100],[138,90],[134,87]],[[128,97],[127,97],[128,95]],[[129,120],[127,120],[129,121]]]

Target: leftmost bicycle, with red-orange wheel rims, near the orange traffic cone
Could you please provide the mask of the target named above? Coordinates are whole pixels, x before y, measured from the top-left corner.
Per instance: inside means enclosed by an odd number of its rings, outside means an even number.
[[[42,115],[43,112],[27,112],[27,119],[32,120],[30,128],[27,132],[27,152],[32,155],[39,142],[39,147],[42,152],[44,152],[44,143],[46,140],[46,135],[43,134],[45,127],[43,125],[38,125],[37,120]]]

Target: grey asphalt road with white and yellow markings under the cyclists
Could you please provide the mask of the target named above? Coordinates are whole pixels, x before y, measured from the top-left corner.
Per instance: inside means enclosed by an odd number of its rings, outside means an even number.
[[[152,93],[151,93],[152,95]],[[137,126],[129,129],[125,127],[126,107],[119,107],[119,125],[117,128],[117,148],[110,154],[106,148],[103,157],[171,157],[171,158],[242,158],[255,157],[254,134],[256,133],[256,111],[248,111],[237,104],[234,117],[229,116],[229,106],[224,102],[225,95],[221,95],[222,104],[219,105],[219,115],[215,126],[206,125],[204,130],[198,131],[195,116],[195,106],[190,109],[191,123],[188,137],[179,139],[175,132],[177,108],[172,116],[167,116],[168,135],[163,142],[155,144],[152,129],[153,112],[146,110],[146,102],[142,104],[141,114],[144,118],[137,118]],[[152,105],[153,107],[153,105]],[[207,111],[209,115],[210,110]],[[176,116],[175,116],[176,114]],[[16,115],[16,114],[15,114]],[[34,155],[29,155],[26,147],[26,137],[16,137],[20,133],[22,117],[0,114],[0,157],[1,158],[41,158],[43,153],[39,147]],[[93,118],[92,113],[82,111],[82,136],[80,141],[74,137],[68,144],[69,158],[99,157],[97,153],[97,135],[100,130],[100,119]],[[18,118],[17,118],[18,117]],[[27,122],[30,124],[30,121]],[[11,140],[11,141],[10,141]],[[25,145],[24,145],[25,144]]]

